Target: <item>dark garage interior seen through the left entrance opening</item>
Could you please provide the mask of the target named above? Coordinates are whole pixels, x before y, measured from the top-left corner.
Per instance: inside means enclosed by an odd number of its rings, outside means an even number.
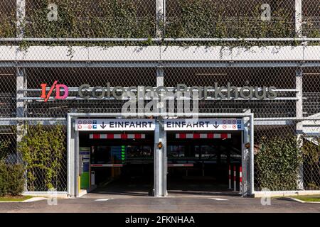
[[[154,133],[80,133],[80,187],[92,194],[148,196]]]

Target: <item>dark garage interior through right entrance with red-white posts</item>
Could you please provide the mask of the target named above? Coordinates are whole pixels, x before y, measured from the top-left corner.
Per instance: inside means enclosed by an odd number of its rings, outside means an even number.
[[[167,133],[169,195],[201,195],[239,192],[241,133]],[[236,170],[236,189],[229,167]],[[233,178],[233,177],[232,177]]]

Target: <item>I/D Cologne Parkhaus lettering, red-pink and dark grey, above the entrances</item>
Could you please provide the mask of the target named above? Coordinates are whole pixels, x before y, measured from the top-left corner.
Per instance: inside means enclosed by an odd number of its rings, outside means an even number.
[[[62,90],[62,89],[63,90]],[[47,93],[47,84],[41,84],[41,99],[45,102],[50,99],[50,95],[55,89],[54,99],[67,99],[69,91],[65,84],[58,84],[55,81],[50,87]],[[181,96],[191,96],[195,99],[275,99],[277,98],[276,87],[234,87],[228,82],[227,86],[218,86],[215,82],[214,86],[193,86],[187,87],[186,84],[177,84],[174,89],[175,92],[171,92],[167,87],[144,87],[144,86],[132,86],[129,88],[124,87],[114,87],[110,86],[110,82],[107,83],[107,87],[91,87],[90,84],[82,84],[78,88],[78,96],[81,99],[109,99],[113,97],[114,99],[137,99],[138,93],[142,89],[143,96],[149,95],[153,98],[159,98],[159,96],[175,96],[180,98]],[[119,92],[120,91],[120,92]],[[63,94],[61,94],[63,92]]]

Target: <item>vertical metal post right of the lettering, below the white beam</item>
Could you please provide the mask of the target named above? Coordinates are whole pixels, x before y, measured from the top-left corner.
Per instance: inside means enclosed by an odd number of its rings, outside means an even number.
[[[299,67],[296,70],[296,89],[297,92],[297,102],[296,102],[296,117],[302,118],[304,116],[303,114],[303,99],[302,99],[302,92],[303,92],[303,70],[302,67]],[[303,126],[302,122],[298,122],[296,126],[296,133],[297,133],[297,145],[298,148],[302,147],[302,134],[303,134]],[[304,166],[303,163],[299,165],[299,175],[297,177],[297,187],[299,190],[304,189]]]

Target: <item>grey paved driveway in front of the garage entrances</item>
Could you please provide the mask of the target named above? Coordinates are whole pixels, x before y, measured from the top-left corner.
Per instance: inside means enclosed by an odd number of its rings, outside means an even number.
[[[57,205],[48,201],[2,203],[0,212],[320,212],[320,204],[271,199],[262,206],[260,199],[239,196],[198,196],[155,199],[144,196],[105,197],[89,194],[78,199],[59,199]]]

